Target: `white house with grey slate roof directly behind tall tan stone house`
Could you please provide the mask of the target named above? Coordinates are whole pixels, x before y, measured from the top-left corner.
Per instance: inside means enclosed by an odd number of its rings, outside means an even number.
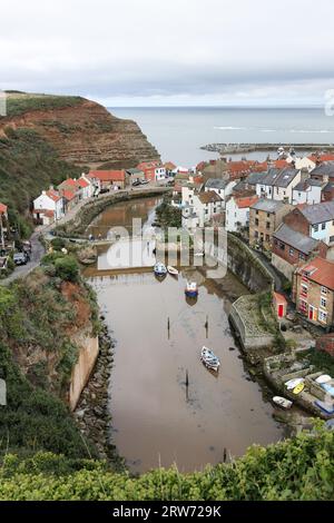
[[[269,169],[256,184],[256,194],[259,198],[291,204],[293,188],[301,181],[301,171],[293,168]]]

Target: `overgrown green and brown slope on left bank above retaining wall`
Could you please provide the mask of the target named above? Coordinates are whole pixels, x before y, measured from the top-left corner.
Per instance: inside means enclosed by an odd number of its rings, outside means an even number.
[[[77,362],[76,334],[99,329],[96,299],[73,256],[53,253],[24,280],[0,287],[0,454],[37,451],[96,455],[84,442],[66,399]]]

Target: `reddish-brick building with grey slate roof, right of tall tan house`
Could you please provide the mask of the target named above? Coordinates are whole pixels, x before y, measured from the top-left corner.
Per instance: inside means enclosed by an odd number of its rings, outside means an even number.
[[[292,282],[296,268],[312,257],[326,258],[327,246],[281,224],[273,234],[272,264]]]

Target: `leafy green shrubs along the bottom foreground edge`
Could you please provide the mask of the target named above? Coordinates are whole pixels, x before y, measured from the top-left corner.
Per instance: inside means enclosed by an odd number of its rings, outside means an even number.
[[[193,474],[157,468],[134,478],[98,462],[8,455],[0,470],[0,500],[333,500],[333,463],[334,434],[324,430],[267,448],[253,446],[232,464]]]

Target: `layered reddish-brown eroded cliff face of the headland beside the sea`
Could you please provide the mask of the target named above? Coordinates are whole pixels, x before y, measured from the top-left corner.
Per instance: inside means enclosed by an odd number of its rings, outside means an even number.
[[[16,100],[9,100],[10,107]],[[33,129],[56,148],[61,159],[91,168],[130,168],[140,161],[159,159],[135,121],[116,118],[99,103],[82,98],[72,105],[65,102],[65,107],[59,102],[48,107],[38,100],[37,97],[30,103],[31,108],[27,103],[24,110],[12,115],[9,111],[7,118],[1,118],[0,135],[6,127]]]

